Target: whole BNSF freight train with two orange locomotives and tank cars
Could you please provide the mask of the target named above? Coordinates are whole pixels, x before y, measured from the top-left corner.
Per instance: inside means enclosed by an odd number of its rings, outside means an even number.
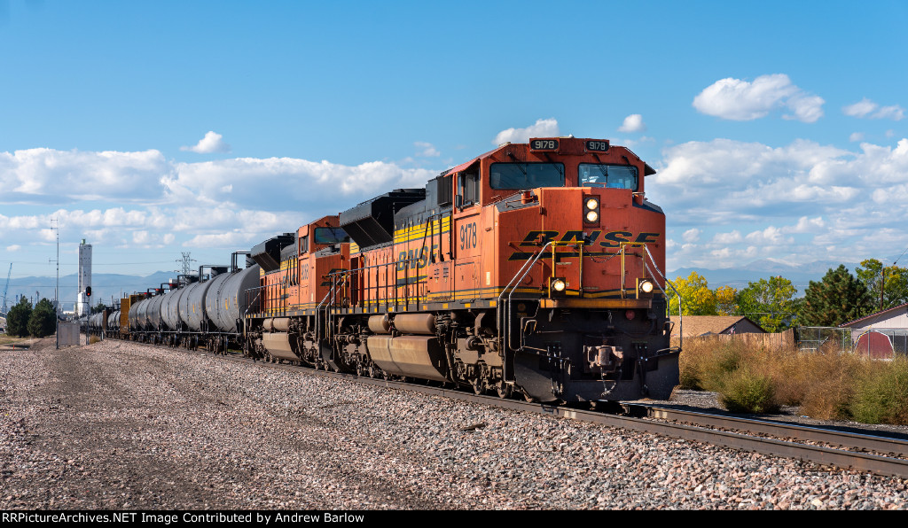
[[[94,330],[529,401],[666,399],[655,172],[607,140],[505,143],[123,298]]]

